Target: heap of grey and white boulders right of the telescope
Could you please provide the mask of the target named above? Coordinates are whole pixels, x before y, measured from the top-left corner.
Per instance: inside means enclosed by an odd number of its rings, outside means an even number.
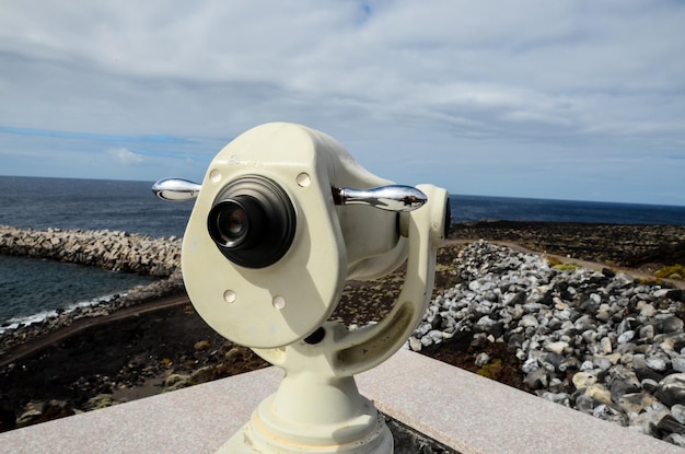
[[[457,261],[462,282],[431,302],[408,348],[506,342],[538,396],[685,446],[683,290],[483,241]]]

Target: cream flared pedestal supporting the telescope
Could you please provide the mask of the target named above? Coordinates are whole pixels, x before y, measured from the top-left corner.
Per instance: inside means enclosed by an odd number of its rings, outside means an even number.
[[[359,394],[353,376],[335,376],[329,363],[334,349],[327,347],[326,341],[299,342],[256,350],[283,368],[286,376],[218,453],[392,454],[393,436],[383,416]]]

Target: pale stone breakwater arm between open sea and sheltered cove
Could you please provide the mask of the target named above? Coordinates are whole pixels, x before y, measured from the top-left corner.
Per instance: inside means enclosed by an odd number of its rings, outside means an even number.
[[[40,231],[0,225],[0,254],[166,277],[181,264],[181,238],[107,230]]]

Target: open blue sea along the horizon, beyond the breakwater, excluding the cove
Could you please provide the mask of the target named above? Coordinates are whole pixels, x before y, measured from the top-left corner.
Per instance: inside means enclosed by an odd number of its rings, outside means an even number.
[[[183,236],[193,201],[164,202],[153,182],[0,176],[0,224]],[[685,225],[685,207],[451,194],[452,222],[526,221]]]

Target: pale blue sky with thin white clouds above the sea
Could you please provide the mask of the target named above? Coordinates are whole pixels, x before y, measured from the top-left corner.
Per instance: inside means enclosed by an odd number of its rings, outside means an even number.
[[[685,206],[683,0],[0,0],[0,175],[201,182],[306,125],[398,184]]]

